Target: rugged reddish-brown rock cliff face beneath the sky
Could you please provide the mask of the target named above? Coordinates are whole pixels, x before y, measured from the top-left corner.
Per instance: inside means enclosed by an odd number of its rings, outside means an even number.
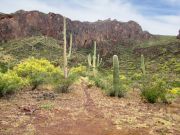
[[[0,41],[33,35],[47,35],[62,40],[62,31],[63,16],[59,14],[22,10],[13,14],[0,14]],[[67,19],[67,32],[73,33],[76,47],[88,47],[93,40],[108,45],[152,37],[134,21],[122,23],[105,20],[90,23]]]

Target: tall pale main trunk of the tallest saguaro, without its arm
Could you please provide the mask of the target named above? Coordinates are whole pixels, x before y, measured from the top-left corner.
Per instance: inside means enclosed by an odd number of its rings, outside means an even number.
[[[67,78],[67,54],[66,54],[66,18],[64,17],[64,30],[63,30],[63,34],[64,34],[64,78]]]

